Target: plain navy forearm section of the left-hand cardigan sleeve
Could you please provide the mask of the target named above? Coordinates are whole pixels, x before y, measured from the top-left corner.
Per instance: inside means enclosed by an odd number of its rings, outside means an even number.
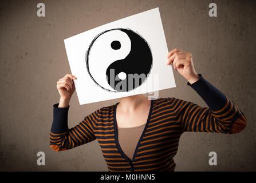
[[[60,134],[67,132],[68,130],[68,110],[66,108],[58,108],[58,103],[53,105],[53,124],[51,132],[54,134]]]

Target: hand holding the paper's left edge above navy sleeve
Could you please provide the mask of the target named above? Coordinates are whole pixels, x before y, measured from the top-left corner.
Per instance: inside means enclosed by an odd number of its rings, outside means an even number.
[[[63,78],[60,78],[57,81],[57,89],[58,93],[60,94],[60,104],[59,107],[66,107],[68,105],[74,90],[76,87],[74,86],[73,79],[77,79],[72,74],[66,74]],[[61,106],[60,106],[61,105]]]

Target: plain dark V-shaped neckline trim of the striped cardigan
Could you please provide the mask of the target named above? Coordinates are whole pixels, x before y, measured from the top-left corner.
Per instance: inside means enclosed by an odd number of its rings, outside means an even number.
[[[117,108],[117,105],[119,104],[120,102],[117,102],[116,105],[114,106],[115,110],[114,110],[114,115],[113,115],[113,118],[114,118],[114,138],[115,138],[115,142],[116,142],[116,146],[117,146],[117,150],[119,150],[119,152],[121,153],[121,155],[125,158],[125,160],[127,160],[129,162],[129,164],[131,165],[132,162],[135,160],[135,157],[137,155],[137,150],[139,149],[139,146],[140,146],[140,142],[142,141],[143,137],[145,136],[145,131],[147,130],[148,128],[148,124],[149,124],[149,121],[150,121],[150,118],[151,118],[151,113],[152,113],[152,108],[153,108],[153,100],[151,100],[151,105],[150,105],[150,109],[149,109],[149,113],[148,113],[148,118],[147,118],[147,122],[144,126],[144,130],[143,132],[141,133],[141,136],[140,136],[140,139],[139,141],[137,142],[137,145],[136,145],[136,149],[135,149],[135,152],[133,153],[133,158],[132,158],[132,161],[126,156],[126,154],[124,154],[123,150],[121,149],[121,146],[119,144],[119,141],[118,141],[118,136],[117,136],[117,122],[116,122],[116,108]],[[132,167],[132,166],[131,166]]]

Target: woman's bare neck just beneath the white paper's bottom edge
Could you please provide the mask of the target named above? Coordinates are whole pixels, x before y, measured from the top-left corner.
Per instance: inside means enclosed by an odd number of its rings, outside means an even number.
[[[150,102],[147,97],[144,97],[143,94],[138,94],[135,96],[123,97],[120,98],[119,109],[125,113],[132,113],[137,108],[141,106],[150,105]]]

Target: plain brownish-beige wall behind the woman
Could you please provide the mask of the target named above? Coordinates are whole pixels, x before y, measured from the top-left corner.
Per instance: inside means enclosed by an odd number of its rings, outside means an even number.
[[[46,17],[37,17],[37,3]],[[107,171],[97,141],[54,152],[49,147],[56,82],[70,73],[64,39],[94,27],[159,7],[168,49],[190,51],[196,71],[231,98],[245,113],[238,134],[182,135],[176,171],[256,170],[255,58],[256,3],[213,1],[218,17],[208,16],[212,1],[1,1],[0,5],[0,170]],[[177,87],[159,97],[177,97],[206,106],[174,71]],[[69,128],[84,116],[119,100],[79,105],[74,93]],[[46,165],[37,165],[37,152]],[[208,153],[218,165],[208,165]]]

